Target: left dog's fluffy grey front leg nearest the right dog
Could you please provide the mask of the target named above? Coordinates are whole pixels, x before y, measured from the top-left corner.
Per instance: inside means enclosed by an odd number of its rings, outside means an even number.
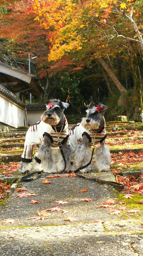
[[[70,146],[66,144],[66,142],[62,145],[62,149],[63,149],[63,153],[65,156],[65,160],[66,160],[66,169],[65,172],[69,173],[72,170],[72,166],[69,162],[70,160]],[[57,167],[58,167],[58,171],[61,172],[64,169],[64,161],[63,161],[63,156],[61,154],[60,149],[58,149],[57,152],[58,155],[58,163],[57,163]]]

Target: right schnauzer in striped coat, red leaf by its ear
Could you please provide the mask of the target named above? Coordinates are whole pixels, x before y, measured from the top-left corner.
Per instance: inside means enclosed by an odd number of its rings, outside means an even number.
[[[96,167],[99,172],[107,171],[110,169],[111,156],[108,147],[105,146],[105,138],[107,137],[105,131],[105,119],[103,113],[107,106],[99,103],[97,107],[94,103],[87,105],[87,115],[82,118],[81,123],[73,126],[70,129],[70,142],[71,147],[71,164],[74,161],[77,168],[80,168],[90,162],[91,150],[90,147],[100,142],[100,146],[96,148]],[[90,146],[90,147],[89,147]],[[91,171],[91,164],[82,169],[81,173],[88,173]]]

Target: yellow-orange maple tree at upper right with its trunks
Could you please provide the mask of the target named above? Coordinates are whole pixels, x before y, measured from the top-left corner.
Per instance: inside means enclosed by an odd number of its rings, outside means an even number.
[[[137,54],[143,53],[142,4],[134,0],[96,1],[32,1],[41,27],[50,29],[47,40],[50,42],[49,60],[57,60],[65,54],[78,59],[97,59],[121,94],[126,89],[117,79],[110,57],[128,61],[134,76],[134,89],[137,97],[140,120],[143,121],[141,75]],[[127,52],[128,51],[128,56]],[[108,61],[108,64],[106,63]],[[106,78],[106,74],[103,71]],[[110,87],[108,86],[109,91]]]

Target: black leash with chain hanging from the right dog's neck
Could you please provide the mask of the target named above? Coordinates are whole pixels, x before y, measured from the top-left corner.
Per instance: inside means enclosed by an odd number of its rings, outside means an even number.
[[[77,174],[80,170],[82,170],[82,169],[86,168],[87,166],[89,166],[91,164],[91,161],[92,161],[92,158],[93,158],[94,149],[95,149],[95,139],[93,137],[92,130],[90,130],[90,131],[91,131],[91,134],[92,134],[92,142],[93,142],[93,150],[92,150],[92,154],[91,154],[91,159],[90,159],[88,164],[86,164],[86,165],[78,168],[76,171],[74,171],[74,173],[76,174],[76,177],[88,179],[88,180],[91,180],[91,181],[94,181],[94,182],[98,182],[98,183],[102,183],[102,184],[108,184],[108,185],[113,186],[114,188],[123,189],[124,185],[121,184],[121,183],[115,182],[115,181],[107,181],[107,180],[102,180],[102,179],[98,179],[98,178],[87,178],[85,176]],[[96,134],[96,132],[95,132],[95,134]]]

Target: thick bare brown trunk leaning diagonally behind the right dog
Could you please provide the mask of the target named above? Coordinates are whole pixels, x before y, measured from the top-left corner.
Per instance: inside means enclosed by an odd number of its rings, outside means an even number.
[[[98,61],[101,64],[101,66],[106,70],[106,72],[108,73],[108,75],[110,76],[112,81],[116,84],[120,94],[127,92],[127,90],[124,88],[124,86],[117,79],[115,73],[111,70],[111,68],[108,67],[105,60],[102,57],[99,57]]]

